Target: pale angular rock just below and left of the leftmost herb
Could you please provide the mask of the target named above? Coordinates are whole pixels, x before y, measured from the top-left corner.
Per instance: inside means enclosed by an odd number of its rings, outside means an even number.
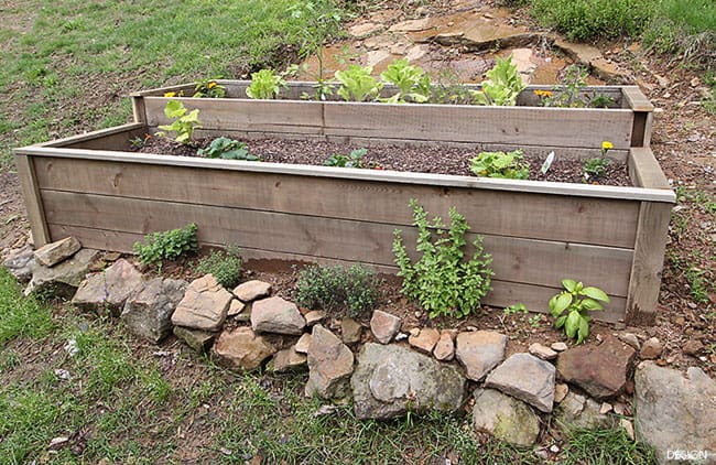
[[[129,261],[120,259],[105,271],[93,273],[85,279],[79,284],[72,303],[85,311],[109,312],[117,316],[122,311],[127,299],[141,291],[143,285],[142,273]]]

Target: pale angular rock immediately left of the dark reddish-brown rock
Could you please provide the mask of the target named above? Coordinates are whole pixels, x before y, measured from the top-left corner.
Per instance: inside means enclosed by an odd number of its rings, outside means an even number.
[[[514,354],[488,375],[485,387],[498,389],[545,413],[554,402],[554,365],[530,354]]]

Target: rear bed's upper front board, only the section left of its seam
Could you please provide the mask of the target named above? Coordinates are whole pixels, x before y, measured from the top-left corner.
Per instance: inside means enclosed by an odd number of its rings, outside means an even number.
[[[169,99],[145,97],[149,126],[166,125],[164,107]],[[216,130],[323,133],[323,104],[318,101],[239,100],[224,98],[181,99],[187,109],[199,110],[205,128]]]

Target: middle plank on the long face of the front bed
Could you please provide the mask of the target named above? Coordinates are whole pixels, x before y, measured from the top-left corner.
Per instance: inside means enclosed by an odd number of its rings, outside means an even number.
[[[393,264],[397,227],[404,229],[409,250],[416,238],[414,228],[394,224],[56,191],[42,195],[53,224],[148,234],[196,223],[205,242],[381,266]],[[475,230],[480,231],[479,225]],[[475,235],[468,237],[471,241]],[[496,275],[506,281],[550,285],[576,277],[615,295],[627,292],[632,258],[628,249],[492,235],[485,236],[485,248],[493,255]]]

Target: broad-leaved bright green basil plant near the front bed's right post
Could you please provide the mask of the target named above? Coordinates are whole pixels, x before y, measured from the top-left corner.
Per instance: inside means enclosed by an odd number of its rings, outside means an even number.
[[[564,328],[568,338],[582,344],[589,335],[588,312],[603,311],[600,302],[609,303],[609,296],[598,288],[585,288],[582,282],[562,280],[564,291],[550,299],[550,313],[556,318],[554,326]],[[566,312],[566,313],[565,313]]]

